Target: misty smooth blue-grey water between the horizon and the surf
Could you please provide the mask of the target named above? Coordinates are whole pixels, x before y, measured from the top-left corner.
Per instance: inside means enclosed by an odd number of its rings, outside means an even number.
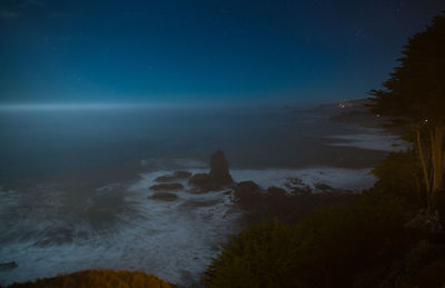
[[[144,160],[150,169],[155,159],[208,161],[218,148],[231,167],[368,165],[342,162],[325,146],[326,137],[350,128],[285,108],[9,109],[0,110],[0,127],[3,181]]]

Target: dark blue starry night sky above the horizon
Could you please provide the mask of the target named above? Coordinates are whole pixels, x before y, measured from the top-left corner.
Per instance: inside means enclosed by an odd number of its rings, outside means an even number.
[[[0,0],[0,102],[365,97],[443,0]]]

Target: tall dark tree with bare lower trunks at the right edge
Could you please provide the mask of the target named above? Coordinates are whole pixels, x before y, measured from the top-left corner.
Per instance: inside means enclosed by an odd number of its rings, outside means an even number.
[[[429,211],[444,195],[445,171],[445,11],[426,30],[404,46],[399,67],[372,90],[375,113],[394,117],[413,131],[423,171],[423,187]]]

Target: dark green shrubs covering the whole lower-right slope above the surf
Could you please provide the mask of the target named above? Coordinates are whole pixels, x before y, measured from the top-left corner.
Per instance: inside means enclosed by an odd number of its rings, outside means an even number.
[[[297,226],[254,226],[230,239],[209,287],[439,287],[445,247],[404,228],[400,198],[366,191],[359,203],[312,213]]]

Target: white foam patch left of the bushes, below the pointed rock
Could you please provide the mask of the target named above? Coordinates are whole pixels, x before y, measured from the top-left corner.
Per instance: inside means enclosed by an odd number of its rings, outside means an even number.
[[[148,199],[151,195],[148,187],[166,172],[142,175],[122,191],[134,212],[119,215],[119,225],[112,232],[88,231],[88,240],[75,236],[61,244],[38,245],[39,239],[28,239],[2,245],[0,262],[16,261],[18,267],[0,271],[0,284],[90,268],[144,270],[181,284],[199,279],[210,257],[219,251],[219,245],[238,232],[236,222],[241,212],[222,191],[204,195],[178,191],[178,200],[174,202]],[[108,186],[100,192],[110,190],[112,187]],[[9,202],[14,205],[13,200]],[[40,218],[33,222],[34,229],[44,230],[53,220]],[[32,222],[32,219],[20,221]],[[73,235],[86,229],[81,224],[71,225]]]

